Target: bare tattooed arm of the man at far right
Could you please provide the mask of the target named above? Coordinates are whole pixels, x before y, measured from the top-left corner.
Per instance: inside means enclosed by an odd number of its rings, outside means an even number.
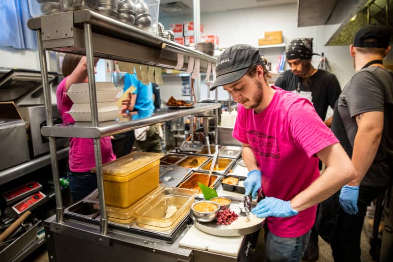
[[[357,186],[370,168],[381,142],[384,127],[384,113],[379,111],[366,112],[355,116],[358,131],[355,136],[352,163],[357,177],[348,183]]]

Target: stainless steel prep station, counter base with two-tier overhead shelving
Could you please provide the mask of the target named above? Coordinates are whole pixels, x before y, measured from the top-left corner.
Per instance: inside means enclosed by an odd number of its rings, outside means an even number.
[[[47,126],[41,129],[49,137],[52,171],[55,181],[56,216],[45,221],[45,232],[50,261],[249,261],[252,249],[251,238],[241,237],[237,256],[228,256],[206,250],[195,250],[179,246],[181,236],[190,227],[183,221],[172,239],[155,237],[138,229],[108,223],[103,189],[103,170],[100,138],[133,130],[181,116],[216,110],[218,103],[200,103],[196,107],[182,110],[162,109],[153,116],[138,120],[98,122],[97,97],[94,80],[93,57],[116,59],[126,62],[173,69],[178,54],[184,56],[183,70],[188,59],[200,59],[200,70],[206,71],[208,63],[216,58],[188,49],[170,40],[158,37],[119,20],[92,10],[77,10],[44,15],[28,20],[29,29],[36,31],[42,82],[45,94]],[[89,79],[91,123],[76,122],[73,125],[54,125],[52,121],[51,96],[45,50],[86,55]],[[217,118],[216,118],[217,134]],[[96,219],[77,219],[64,213],[62,204],[55,137],[92,138],[96,162],[100,216]],[[217,136],[216,136],[217,137]],[[216,141],[217,144],[217,141]],[[223,240],[225,241],[225,240]]]

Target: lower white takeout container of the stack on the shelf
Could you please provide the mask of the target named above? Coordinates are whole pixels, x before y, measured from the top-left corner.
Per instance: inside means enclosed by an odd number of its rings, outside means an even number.
[[[112,121],[118,117],[120,113],[120,109],[114,102],[97,103],[97,111],[99,122]],[[91,121],[90,103],[73,104],[70,111],[65,113],[70,114],[75,121]]]

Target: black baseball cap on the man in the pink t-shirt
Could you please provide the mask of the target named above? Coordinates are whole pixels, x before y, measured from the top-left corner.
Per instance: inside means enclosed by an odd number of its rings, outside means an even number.
[[[242,78],[253,65],[265,65],[259,50],[249,45],[231,46],[217,58],[217,78],[210,91]]]

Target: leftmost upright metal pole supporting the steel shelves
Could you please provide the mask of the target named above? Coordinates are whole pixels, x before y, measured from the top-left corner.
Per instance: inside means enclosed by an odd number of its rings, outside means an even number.
[[[46,53],[42,45],[42,30],[41,29],[36,30],[36,35],[37,35],[38,53],[39,53],[40,66],[41,66],[42,87],[44,88],[46,123],[47,126],[53,126],[51,89],[49,88],[49,82],[48,82],[48,68],[46,63]],[[56,194],[56,222],[63,223],[64,207],[63,207],[63,200],[61,198],[60,181],[58,175],[56,141],[55,141],[55,137],[48,137],[48,139],[49,139],[49,151],[51,153],[53,183],[54,183],[55,194]]]

